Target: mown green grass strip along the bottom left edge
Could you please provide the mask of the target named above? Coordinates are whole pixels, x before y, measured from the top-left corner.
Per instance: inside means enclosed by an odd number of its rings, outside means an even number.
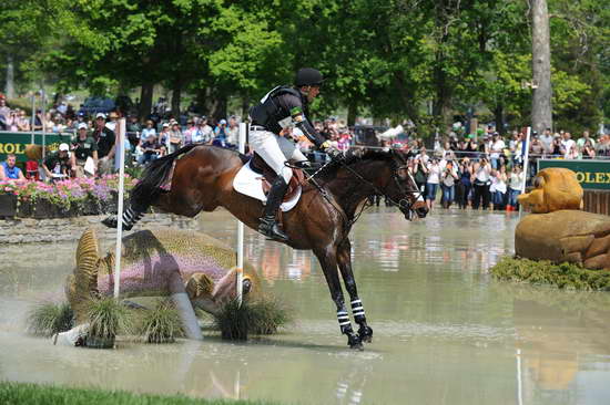
[[[123,391],[68,388],[0,382],[0,404],[7,405],[272,405],[271,402],[195,399],[182,395],[132,394]]]

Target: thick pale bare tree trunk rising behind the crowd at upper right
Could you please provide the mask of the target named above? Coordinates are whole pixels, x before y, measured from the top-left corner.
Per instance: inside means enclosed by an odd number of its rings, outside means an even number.
[[[552,128],[551,50],[547,0],[531,0],[531,62],[533,94],[531,126],[541,134]]]

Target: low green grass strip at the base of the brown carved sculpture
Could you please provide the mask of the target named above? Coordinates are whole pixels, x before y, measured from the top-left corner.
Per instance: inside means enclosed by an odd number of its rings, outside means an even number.
[[[572,263],[505,257],[489,272],[500,280],[552,284],[568,290],[610,291],[610,270],[589,270]]]

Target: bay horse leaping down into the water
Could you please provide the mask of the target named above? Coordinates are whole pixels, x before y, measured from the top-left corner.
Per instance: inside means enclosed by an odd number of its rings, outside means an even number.
[[[245,155],[233,150],[187,145],[148,166],[131,191],[130,208],[133,208],[132,212],[145,212],[154,206],[166,212],[194,217],[202,210],[224,207],[256,230],[263,204],[233,189],[233,178],[246,162]],[[163,190],[169,181],[170,189]],[[363,342],[372,341],[373,329],[367,325],[358,298],[348,233],[358,217],[358,209],[364,208],[363,204],[373,195],[388,198],[407,219],[415,215],[423,218],[428,212],[407,169],[406,154],[359,150],[326,164],[313,178],[304,181],[298,204],[281,214],[283,229],[289,237],[285,243],[314,252],[336,305],[340,332],[347,335],[348,345],[358,350],[363,350]],[[141,215],[138,214],[135,219]],[[104,220],[106,226],[109,219]],[[357,334],[346,310],[337,266],[349,293],[354,320],[359,325]]]

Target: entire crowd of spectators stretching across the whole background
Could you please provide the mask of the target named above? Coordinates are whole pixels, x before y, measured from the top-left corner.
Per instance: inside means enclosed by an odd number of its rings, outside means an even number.
[[[44,120],[48,131],[72,133],[73,137],[40,162],[40,177],[92,177],[116,172],[116,112],[108,116],[103,113],[87,116],[77,113],[71,105],[59,103],[44,116],[37,113],[34,129],[42,128]],[[10,110],[4,97],[0,96],[0,123],[6,125],[4,129],[30,131],[30,122],[31,118],[23,111]],[[192,143],[236,149],[240,122],[238,116],[215,121],[192,112],[176,120],[170,114],[159,114],[157,110],[144,122],[139,121],[135,114],[128,115],[125,163],[144,166]],[[353,128],[348,128],[342,120],[332,117],[315,122],[314,126],[339,150],[362,146]],[[292,137],[311,162],[326,162],[327,157],[315,150],[298,129],[286,129],[282,135]],[[508,136],[500,136],[492,126],[488,126],[471,135],[449,131],[448,136],[438,137],[434,145],[428,145],[431,146],[429,149],[414,133],[384,138],[378,147],[400,148],[410,153],[409,170],[430,210],[437,200],[444,208],[456,205],[462,209],[512,210],[517,208],[517,196],[526,181],[522,170],[525,138],[523,132],[514,131]],[[536,173],[538,158],[607,157],[610,157],[610,137],[607,135],[594,139],[588,132],[583,132],[581,137],[573,141],[571,134],[563,131],[552,134],[547,129],[541,135],[532,133],[528,165],[530,173],[527,177]],[[0,178],[7,177],[8,172],[14,175],[12,167],[14,156],[0,167]]]

